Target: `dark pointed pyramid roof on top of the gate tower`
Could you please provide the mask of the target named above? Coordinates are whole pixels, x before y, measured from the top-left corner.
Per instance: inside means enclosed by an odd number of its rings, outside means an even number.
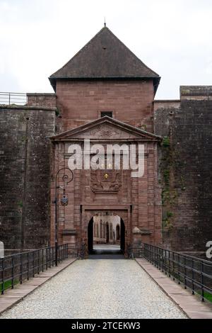
[[[49,77],[54,90],[59,79],[153,79],[155,92],[160,83],[159,75],[143,64],[107,26]]]

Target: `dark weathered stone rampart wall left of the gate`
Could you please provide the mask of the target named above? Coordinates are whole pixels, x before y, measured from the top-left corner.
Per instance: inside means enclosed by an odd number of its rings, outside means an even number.
[[[49,244],[55,108],[0,106],[0,239],[9,252]]]

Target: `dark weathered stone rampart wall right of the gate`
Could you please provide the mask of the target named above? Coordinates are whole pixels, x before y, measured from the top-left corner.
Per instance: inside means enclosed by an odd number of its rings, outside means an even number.
[[[164,246],[204,259],[212,240],[211,110],[212,101],[196,96],[155,111],[155,132],[167,137],[160,149]]]

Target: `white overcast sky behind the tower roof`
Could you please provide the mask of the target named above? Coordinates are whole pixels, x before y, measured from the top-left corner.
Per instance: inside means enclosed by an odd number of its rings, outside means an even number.
[[[107,26],[162,77],[156,98],[212,85],[211,0],[0,0],[0,91],[53,92],[48,77]]]

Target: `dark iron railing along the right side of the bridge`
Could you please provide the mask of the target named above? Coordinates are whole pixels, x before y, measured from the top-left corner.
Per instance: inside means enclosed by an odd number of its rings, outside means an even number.
[[[151,244],[129,247],[130,258],[145,258],[167,276],[201,296],[201,300],[212,300],[212,262],[173,252]]]

